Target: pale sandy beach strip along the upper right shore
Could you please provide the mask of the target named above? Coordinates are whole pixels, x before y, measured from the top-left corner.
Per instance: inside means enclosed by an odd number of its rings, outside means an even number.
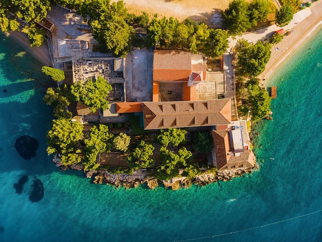
[[[295,25],[294,32],[290,36],[285,36],[282,42],[272,47],[272,55],[269,62],[266,64],[265,71],[259,76],[260,79],[265,79],[270,76],[275,67],[277,67],[288,55],[292,53],[315,28],[320,28],[322,25],[322,3],[314,2],[310,7],[312,14],[306,20]],[[278,51],[275,50],[278,47]],[[310,48],[310,46],[308,46]]]

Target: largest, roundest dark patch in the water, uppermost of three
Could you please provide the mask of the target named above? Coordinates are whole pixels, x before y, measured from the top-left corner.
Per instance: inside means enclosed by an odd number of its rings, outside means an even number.
[[[36,156],[38,141],[29,135],[20,136],[16,139],[14,148],[19,152],[22,158],[30,160]]]

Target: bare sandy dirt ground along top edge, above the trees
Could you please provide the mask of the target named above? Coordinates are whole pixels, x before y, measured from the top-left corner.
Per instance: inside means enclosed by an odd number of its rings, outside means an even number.
[[[112,0],[117,2],[118,0]],[[220,10],[228,8],[229,0],[123,0],[130,13],[142,11],[153,15],[166,16],[182,21],[186,18],[204,21],[210,26],[221,24]],[[220,26],[218,26],[220,27]]]

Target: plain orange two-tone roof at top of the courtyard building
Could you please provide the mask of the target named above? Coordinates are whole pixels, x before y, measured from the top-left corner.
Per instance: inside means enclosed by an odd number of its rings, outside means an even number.
[[[154,50],[154,81],[187,81],[191,74],[191,53],[181,50]]]

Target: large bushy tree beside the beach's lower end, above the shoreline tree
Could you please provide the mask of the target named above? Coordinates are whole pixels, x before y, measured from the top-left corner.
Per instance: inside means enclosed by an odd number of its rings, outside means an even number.
[[[271,57],[271,45],[269,43],[263,44],[259,41],[256,44],[248,45],[245,40],[241,40],[236,49],[239,51],[238,74],[242,76],[258,76],[265,70],[265,65]]]

